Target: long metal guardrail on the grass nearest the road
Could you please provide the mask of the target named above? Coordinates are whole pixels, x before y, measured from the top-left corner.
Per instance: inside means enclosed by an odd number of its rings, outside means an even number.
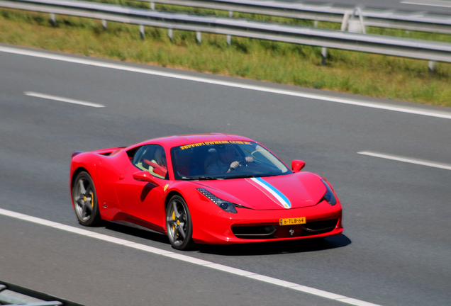
[[[451,44],[440,42],[347,33],[338,30],[247,21],[237,18],[150,11],[143,8],[130,8],[86,1],[3,0],[0,1],[0,7],[138,24],[142,34],[144,26],[168,28],[169,37],[171,37],[173,29],[196,31],[199,42],[201,40],[201,32],[207,32],[313,45],[323,47],[323,59],[325,57],[325,48],[330,47],[382,55],[411,57],[434,62],[451,62]],[[104,26],[106,26],[106,23],[104,23]]]

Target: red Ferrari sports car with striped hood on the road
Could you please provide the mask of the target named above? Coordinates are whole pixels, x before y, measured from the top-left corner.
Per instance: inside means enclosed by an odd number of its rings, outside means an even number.
[[[162,137],[72,154],[72,205],[82,225],[150,229],[182,250],[341,234],[340,201],[304,165],[237,135]]]

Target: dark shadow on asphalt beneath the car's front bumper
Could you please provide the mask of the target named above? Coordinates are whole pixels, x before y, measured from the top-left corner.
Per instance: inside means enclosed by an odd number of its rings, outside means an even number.
[[[284,242],[263,242],[255,244],[206,245],[196,247],[196,251],[224,256],[252,256],[303,253],[336,249],[351,244],[344,234],[323,239],[301,239]]]

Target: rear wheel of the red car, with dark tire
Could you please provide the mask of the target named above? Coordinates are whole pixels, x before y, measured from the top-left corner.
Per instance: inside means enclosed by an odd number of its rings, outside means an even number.
[[[84,226],[94,226],[100,223],[99,203],[94,181],[83,171],[77,175],[72,187],[72,200],[74,201],[75,215]]]

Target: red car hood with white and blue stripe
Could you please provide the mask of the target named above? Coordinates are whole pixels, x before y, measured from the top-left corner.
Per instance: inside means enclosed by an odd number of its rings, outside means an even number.
[[[250,179],[192,181],[218,198],[255,210],[304,208],[316,205],[326,191],[310,172]]]

